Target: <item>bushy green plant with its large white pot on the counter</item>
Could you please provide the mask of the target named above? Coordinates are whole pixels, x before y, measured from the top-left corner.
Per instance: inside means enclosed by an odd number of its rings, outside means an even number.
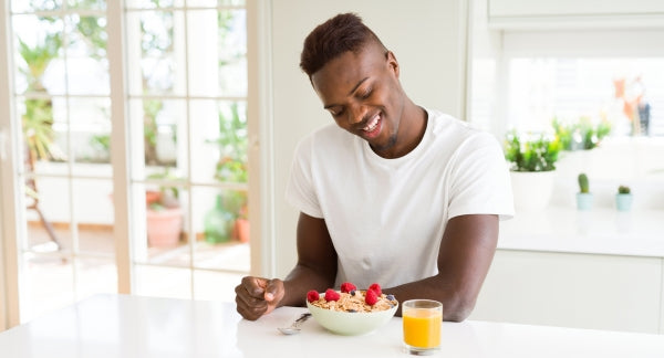
[[[559,152],[557,136],[518,135],[513,130],[507,135],[505,158],[510,164],[517,210],[541,210],[549,204]]]

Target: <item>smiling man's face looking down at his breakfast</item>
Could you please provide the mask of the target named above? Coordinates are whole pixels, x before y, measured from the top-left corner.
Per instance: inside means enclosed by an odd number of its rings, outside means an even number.
[[[390,157],[397,141],[404,108],[394,55],[377,44],[346,52],[311,76],[313,88],[343,129],[364,138],[374,151]]]

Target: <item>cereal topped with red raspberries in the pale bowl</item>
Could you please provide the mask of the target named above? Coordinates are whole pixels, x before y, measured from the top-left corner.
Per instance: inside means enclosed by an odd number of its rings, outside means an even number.
[[[349,282],[341,284],[341,291],[328,288],[324,295],[310,291],[307,299],[313,306],[339,312],[377,312],[396,306],[393,295],[385,295],[378,284],[372,284],[369,289],[357,289]]]

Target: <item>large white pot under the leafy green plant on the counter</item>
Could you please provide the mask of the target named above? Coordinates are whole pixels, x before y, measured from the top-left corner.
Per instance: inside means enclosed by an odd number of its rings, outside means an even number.
[[[547,208],[553,191],[556,171],[510,171],[515,209],[537,211]]]

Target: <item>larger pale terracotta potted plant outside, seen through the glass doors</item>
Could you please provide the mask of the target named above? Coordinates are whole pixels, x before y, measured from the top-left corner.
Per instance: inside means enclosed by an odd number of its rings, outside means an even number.
[[[148,179],[176,179],[168,169],[153,173]],[[184,214],[176,187],[159,186],[158,190],[146,190],[147,243],[149,246],[177,246],[183,231]]]

